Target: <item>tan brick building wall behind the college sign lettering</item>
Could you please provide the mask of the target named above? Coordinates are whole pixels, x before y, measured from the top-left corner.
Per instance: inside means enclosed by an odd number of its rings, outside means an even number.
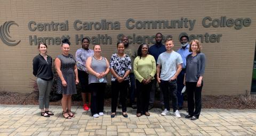
[[[204,40],[203,50],[207,57],[204,75],[203,94],[241,94],[250,90],[252,79],[252,66],[255,50],[256,31],[256,1],[0,1],[0,24],[6,21],[15,21],[19,26],[10,26],[10,39],[20,43],[7,46],[0,40],[0,89],[15,92],[31,92],[32,60],[38,54],[37,46],[30,45],[29,36],[62,37],[70,36],[70,53],[75,55],[81,47],[76,44],[76,35],[97,36],[98,34],[111,37],[111,44],[102,44],[102,54],[110,59],[116,49],[117,35],[154,36],[161,32],[164,36],[172,35],[174,50],[180,47],[179,35],[221,35],[219,42]],[[241,29],[233,27],[204,27],[202,20],[205,17],[219,19],[251,19],[250,26]],[[157,29],[128,29],[125,25],[128,19],[136,21],[181,20],[181,18],[195,21],[194,28],[157,28]],[[74,21],[120,22],[120,28],[115,30],[76,30]],[[61,23],[68,20],[68,30],[56,31],[30,31],[29,21],[38,23]],[[210,21],[206,21],[209,23]],[[134,23],[130,22],[130,25]],[[79,24],[78,24],[79,25]],[[248,23],[247,23],[248,25]],[[79,25],[81,26],[81,25]],[[1,32],[2,33],[2,32]],[[131,41],[131,39],[130,39]],[[152,43],[149,43],[152,45]],[[138,44],[131,44],[138,46]],[[93,44],[90,45],[92,48]],[[49,45],[49,55],[53,58],[61,54],[60,45]]]

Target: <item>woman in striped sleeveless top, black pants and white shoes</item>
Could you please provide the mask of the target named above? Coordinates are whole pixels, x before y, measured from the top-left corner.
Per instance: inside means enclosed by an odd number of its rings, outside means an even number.
[[[91,114],[93,117],[103,116],[104,93],[109,73],[109,62],[101,56],[100,45],[94,45],[94,55],[86,60],[89,71],[89,87],[91,94]]]

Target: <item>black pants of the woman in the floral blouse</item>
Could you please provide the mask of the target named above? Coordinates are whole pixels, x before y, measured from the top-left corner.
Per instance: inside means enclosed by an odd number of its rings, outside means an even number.
[[[126,97],[129,80],[119,83],[118,81],[111,81],[112,95],[111,95],[111,112],[116,113],[117,99],[120,92],[120,103],[122,111],[126,112]]]

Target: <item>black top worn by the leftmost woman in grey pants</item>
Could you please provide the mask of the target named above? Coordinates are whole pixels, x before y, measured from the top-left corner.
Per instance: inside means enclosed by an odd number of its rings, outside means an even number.
[[[41,54],[36,55],[33,59],[33,75],[45,81],[53,79],[52,57],[50,55],[47,55],[47,61]]]

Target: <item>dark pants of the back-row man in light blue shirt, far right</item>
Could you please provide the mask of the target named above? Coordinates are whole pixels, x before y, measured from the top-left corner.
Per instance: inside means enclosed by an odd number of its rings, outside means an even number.
[[[180,71],[180,74],[177,77],[177,97],[178,97],[178,106],[183,106],[183,93],[181,93],[184,84],[184,76],[185,76],[185,70]]]

